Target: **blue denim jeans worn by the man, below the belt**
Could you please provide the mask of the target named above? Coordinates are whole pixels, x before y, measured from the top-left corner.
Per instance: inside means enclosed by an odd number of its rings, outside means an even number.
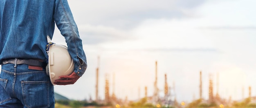
[[[43,71],[26,64],[2,65],[0,108],[54,108],[54,87]]]

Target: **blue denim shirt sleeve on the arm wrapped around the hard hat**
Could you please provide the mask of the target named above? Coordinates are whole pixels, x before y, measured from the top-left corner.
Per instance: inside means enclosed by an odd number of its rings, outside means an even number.
[[[81,77],[85,73],[87,62],[72,12],[67,0],[56,0],[54,8],[54,20],[61,35],[65,37],[68,52],[75,64],[74,72]]]

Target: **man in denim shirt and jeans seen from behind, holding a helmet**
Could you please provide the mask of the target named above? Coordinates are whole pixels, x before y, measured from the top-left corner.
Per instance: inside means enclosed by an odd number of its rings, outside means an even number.
[[[55,23],[65,37],[74,72],[54,84],[74,84],[87,62],[67,0],[0,0],[0,108],[54,108],[45,48]]]

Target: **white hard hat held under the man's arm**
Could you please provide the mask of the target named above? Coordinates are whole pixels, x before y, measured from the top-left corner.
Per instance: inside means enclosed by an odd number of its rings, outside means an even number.
[[[50,37],[47,36],[48,43],[51,42]],[[60,44],[52,44],[49,46],[48,65],[49,77],[52,84],[58,77],[63,75],[70,75],[74,71],[74,62],[67,51],[67,47]],[[55,85],[55,84],[53,84]]]

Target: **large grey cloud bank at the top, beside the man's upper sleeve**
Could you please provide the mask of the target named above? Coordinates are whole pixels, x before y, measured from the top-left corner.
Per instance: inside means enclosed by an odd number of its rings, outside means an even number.
[[[83,44],[135,39],[130,31],[148,19],[193,16],[192,8],[206,0],[70,0],[70,8]]]

